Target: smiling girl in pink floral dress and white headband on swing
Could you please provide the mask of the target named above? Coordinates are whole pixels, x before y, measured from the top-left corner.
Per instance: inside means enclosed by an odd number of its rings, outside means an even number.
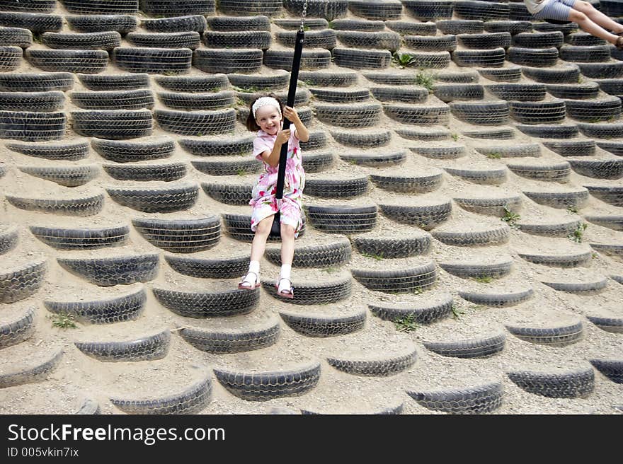
[[[284,129],[283,117],[292,121]],[[299,141],[309,140],[309,131],[301,122],[297,111],[284,106],[269,94],[256,98],[246,120],[250,131],[257,131],[253,140],[253,156],[264,163],[264,173],[253,187],[249,204],[253,207],[251,230],[256,233],[251,245],[251,262],[248,272],[239,282],[239,289],[256,289],[260,286],[260,258],[264,254],[266,239],[273,226],[274,214],[280,211],[281,222],[281,274],[277,293],[285,298],[294,298],[290,281],[292,258],[295,253],[295,238],[302,227],[301,197],[305,187],[305,171],[301,162]],[[281,146],[287,143],[287,163],[282,199],[277,199],[277,176]]]

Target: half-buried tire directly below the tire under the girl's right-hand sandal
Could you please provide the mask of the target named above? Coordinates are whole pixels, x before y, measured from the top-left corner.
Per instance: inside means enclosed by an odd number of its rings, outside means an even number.
[[[298,315],[280,311],[283,321],[295,332],[307,337],[336,337],[361,330],[365,325],[366,313],[354,315],[321,317],[316,315]]]

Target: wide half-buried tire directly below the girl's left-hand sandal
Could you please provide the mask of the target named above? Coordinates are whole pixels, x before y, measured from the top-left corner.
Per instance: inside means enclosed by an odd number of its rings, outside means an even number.
[[[185,318],[212,318],[248,314],[259,303],[260,290],[184,292],[154,288],[159,303]]]

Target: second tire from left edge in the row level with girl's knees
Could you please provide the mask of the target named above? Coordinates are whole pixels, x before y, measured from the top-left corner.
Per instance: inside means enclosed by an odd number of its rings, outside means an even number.
[[[109,228],[50,228],[30,226],[30,232],[46,245],[57,250],[95,250],[123,245],[130,234],[128,226]]]

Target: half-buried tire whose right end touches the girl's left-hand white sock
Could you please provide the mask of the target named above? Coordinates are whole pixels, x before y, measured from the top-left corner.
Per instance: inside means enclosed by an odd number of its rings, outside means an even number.
[[[234,279],[248,269],[249,255],[222,260],[165,255],[164,259],[171,269],[183,275],[200,279]]]

